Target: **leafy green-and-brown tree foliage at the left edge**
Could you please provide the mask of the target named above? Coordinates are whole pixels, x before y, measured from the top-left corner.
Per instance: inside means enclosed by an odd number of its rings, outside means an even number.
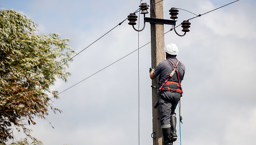
[[[61,112],[52,105],[49,87],[57,77],[67,81],[68,64],[61,64],[74,51],[68,39],[37,35],[36,30],[24,15],[0,10],[0,143],[14,138],[12,127],[36,140],[27,128],[36,124],[34,117],[45,118],[50,110]],[[56,91],[53,94],[59,98]]]

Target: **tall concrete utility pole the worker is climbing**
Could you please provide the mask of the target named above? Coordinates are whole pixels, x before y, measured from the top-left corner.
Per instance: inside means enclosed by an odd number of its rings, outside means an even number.
[[[150,17],[163,19],[163,1],[161,0],[150,0]],[[157,3],[159,2],[159,3]],[[157,3],[156,5],[153,5]],[[159,62],[163,61],[164,56],[164,25],[163,24],[151,24],[151,65],[157,66]],[[152,86],[156,86],[158,78],[152,80]],[[161,113],[160,107],[157,109],[153,108],[158,101],[158,95],[155,88],[152,88],[152,116],[153,116],[153,145],[162,145],[163,134],[161,129]]]

